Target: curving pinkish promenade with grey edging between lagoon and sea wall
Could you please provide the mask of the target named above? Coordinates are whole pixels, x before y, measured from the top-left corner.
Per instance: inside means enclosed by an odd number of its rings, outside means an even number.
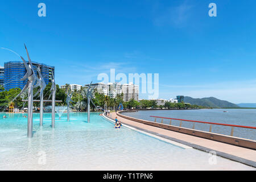
[[[178,133],[176,131],[166,130],[155,126],[145,125],[144,123],[139,123],[131,121],[130,119],[119,117],[116,113],[110,113],[112,118],[104,117],[108,119],[113,119],[115,117],[121,120],[127,126],[133,127],[134,129],[144,131],[152,135],[156,135],[161,138],[172,140],[173,142],[183,144],[184,146],[192,147],[197,150],[210,152],[212,151],[222,158],[240,162],[256,168],[256,151],[249,148],[243,148],[238,146],[233,146],[232,144],[221,143],[214,140],[209,140],[205,138],[195,137],[188,134]],[[122,119],[121,119],[122,118]],[[113,121],[113,120],[112,120]]]

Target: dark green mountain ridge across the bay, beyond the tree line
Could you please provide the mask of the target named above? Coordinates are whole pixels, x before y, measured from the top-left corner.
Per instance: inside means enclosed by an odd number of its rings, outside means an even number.
[[[222,101],[215,97],[207,97],[207,98],[192,98],[192,97],[184,97],[184,102],[192,104],[192,105],[199,105],[199,106],[206,106],[206,107],[240,107],[236,104],[233,104],[228,101]]]

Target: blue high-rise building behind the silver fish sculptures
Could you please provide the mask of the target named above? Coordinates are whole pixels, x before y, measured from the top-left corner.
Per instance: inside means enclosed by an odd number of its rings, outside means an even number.
[[[44,77],[44,81],[46,84],[51,82],[52,80],[52,73],[55,73],[55,67],[51,67],[46,64],[36,63],[32,62],[33,68],[35,73],[37,73],[36,68],[39,66],[42,76]],[[10,61],[5,63],[5,69],[4,69],[4,79],[3,84],[6,90],[10,90],[13,88],[20,88],[22,89],[26,83],[27,80],[20,81],[20,78],[22,78],[26,74],[26,68],[24,67],[24,64],[22,61]],[[1,78],[1,77],[0,77]]]

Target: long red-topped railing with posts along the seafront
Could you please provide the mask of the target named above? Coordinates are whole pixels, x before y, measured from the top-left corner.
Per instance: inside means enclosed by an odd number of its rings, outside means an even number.
[[[209,124],[209,125],[210,125],[209,132],[212,132],[212,125],[231,126],[231,127],[232,127],[231,134],[230,134],[231,136],[233,136],[234,127],[241,127],[241,128],[246,128],[246,129],[256,129],[256,127],[253,127],[253,126],[229,125],[229,124],[223,124],[223,123],[213,123],[213,122],[204,122],[204,121],[193,121],[193,120],[188,120],[188,119],[177,119],[177,118],[158,117],[158,116],[153,116],[153,115],[150,115],[150,117],[154,117],[154,118],[155,118],[155,122],[156,122],[156,118],[162,118],[162,122],[161,122],[161,123],[163,123],[163,119],[170,119],[170,125],[171,125],[171,121],[172,121],[172,120],[177,120],[177,121],[180,121],[180,127],[181,127],[181,125],[182,125],[182,121],[193,122],[193,129],[195,129],[195,123],[205,123],[205,124]]]

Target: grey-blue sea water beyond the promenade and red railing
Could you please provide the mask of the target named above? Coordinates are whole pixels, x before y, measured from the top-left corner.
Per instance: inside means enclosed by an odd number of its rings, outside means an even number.
[[[228,111],[228,112],[224,112]],[[155,118],[150,115],[158,117],[168,117],[177,119],[188,119],[195,121],[225,123],[230,125],[254,126],[256,127],[256,109],[199,109],[199,110],[143,110],[138,112],[125,112],[124,115],[146,119],[148,121],[155,121]],[[161,119],[156,119],[156,122],[161,122]],[[170,119],[163,119],[163,123],[169,124]],[[179,126],[180,121],[172,120],[172,125]],[[182,127],[192,129],[193,122],[182,122]],[[196,130],[209,131],[209,124],[195,123]],[[230,135],[230,126],[212,125],[212,132],[224,135]],[[245,129],[234,127],[234,137],[247,138],[256,140],[255,129]]]

